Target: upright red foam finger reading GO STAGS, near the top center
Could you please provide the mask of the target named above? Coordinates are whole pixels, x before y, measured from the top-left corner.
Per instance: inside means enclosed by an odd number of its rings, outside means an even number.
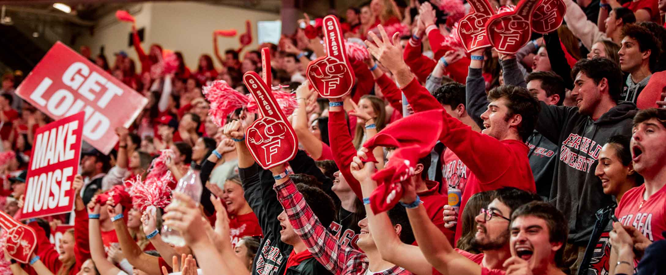
[[[320,96],[335,99],[350,93],[356,78],[347,57],[338,18],[328,15],[322,25],[326,56],[310,62],[306,75]]]

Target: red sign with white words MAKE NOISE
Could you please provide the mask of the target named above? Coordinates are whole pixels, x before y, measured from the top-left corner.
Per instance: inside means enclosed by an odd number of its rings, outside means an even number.
[[[79,172],[83,112],[37,129],[28,163],[22,219],[67,213],[74,207],[74,175]]]

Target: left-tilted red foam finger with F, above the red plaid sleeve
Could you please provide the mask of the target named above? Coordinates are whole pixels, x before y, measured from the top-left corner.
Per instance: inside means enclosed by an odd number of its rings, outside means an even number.
[[[291,160],[296,156],[298,139],[271,89],[252,71],[243,75],[243,83],[252,93],[261,115],[245,133],[245,144],[252,157],[264,169]]]

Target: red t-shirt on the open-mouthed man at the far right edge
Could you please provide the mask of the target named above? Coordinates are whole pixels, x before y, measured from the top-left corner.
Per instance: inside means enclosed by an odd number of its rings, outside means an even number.
[[[661,232],[666,230],[666,186],[643,200],[645,184],[629,189],[619,205],[615,216],[624,225],[638,229],[649,240],[663,240]]]

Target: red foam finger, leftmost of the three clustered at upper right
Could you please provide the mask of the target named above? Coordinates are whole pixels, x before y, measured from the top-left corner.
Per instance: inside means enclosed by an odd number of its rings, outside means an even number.
[[[495,12],[488,0],[470,0],[472,11],[458,22],[458,36],[465,51],[471,53],[490,46],[485,24]]]

